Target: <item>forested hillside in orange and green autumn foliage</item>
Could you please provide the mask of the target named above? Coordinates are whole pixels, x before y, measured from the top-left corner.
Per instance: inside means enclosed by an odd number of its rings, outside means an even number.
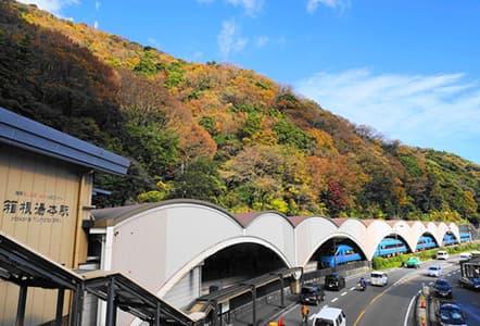
[[[97,177],[113,191],[98,206],[194,198],[230,212],[480,216],[477,164],[387,140],[251,70],[13,1],[0,3],[0,105],[132,161],[127,177]]]

